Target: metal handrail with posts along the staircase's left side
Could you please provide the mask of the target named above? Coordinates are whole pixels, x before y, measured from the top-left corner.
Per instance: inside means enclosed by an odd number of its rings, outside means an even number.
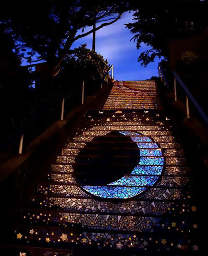
[[[103,82],[104,82],[104,79],[106,78],[107,76],[107,83],[109,81],[109,72],[111,71],[111,78],[113,78],[113,65],[108,69],[108,71],[106,72],[106,74],[104,74],[103,76]],[[102,88],[102,84],[103,82],[101,83],[101,88]],[[69,96],[67,96],[68,98]],[[64,110],[65,110],[65,105],[66,105],[66,97],[59,97],[58,99],[58,104],[56,104],[56,107],[60,107],[60,120],[63,120],[64,119]],[[57,103],[57,102],[56,102]],[[55,104],[55,102],[54,102]],[[82,104],[84,104],[84,81],[82,83]],[[38,116],[38,117],[35,117],[35,120],[37,120],[38,118],[41,119],[41,118],[45,118],[45,116],[47,114],[49,114],[49,109],[52,108],[52,104],[48,104],[45,109],[43,109],[42,113]],[[56,109],[56,108],[55,108]],[[67,109],[67,111],[69,111],[69,109]],[[56,112],[57,112],[57,109],[56,109]],[[57,114],[56,113],[56,117],[57,117]],[[13,134],[9,139],[7,139],[4,143],[2,143],[0,145],[0,148],[3,149],[6,145],[10,144],[10,143],[13,143],[13,142],[16,142],[18,138],[20,138],[20,142],[19,142],[19,147],[18,147],[18,152],[19,154],[22,154],[22,150],[23,150],[23,142],[24,142],[24,137],[25,137],[25,133],[30,130],[31,127],[29,126],[25,126],[25,127],[22,127],[18,132],[16,132],[15,134]]]

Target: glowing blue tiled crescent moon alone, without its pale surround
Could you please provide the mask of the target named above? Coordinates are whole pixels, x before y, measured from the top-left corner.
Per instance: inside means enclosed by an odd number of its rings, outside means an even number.
[[[153,186],[162,173],[164,159],[157,143],[150,137],[141,137],[141,134],[136,132],[119,133],[130,136],[138,145],[143,142],[151,142],[151,144],[149,144],[151,150],[140,150],[142,157],[138,165],[132,170],[130,176],[121,177],[119,180],[109,183],[109,186],[82,186],[84,190],[92,195],[101,198],[132,198],[142,193],[149,186]],[[135,135],[138,137],[134,137]]]

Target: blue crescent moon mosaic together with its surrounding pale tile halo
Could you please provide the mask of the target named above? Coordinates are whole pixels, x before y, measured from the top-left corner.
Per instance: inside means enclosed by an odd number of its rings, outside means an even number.
[[[112,114],[112,116],[114,115]],[[54,185],[51,189],[56,190],[56,193],[68,195],[69,198],[54,198],[52,204],[61,206],[63,210],[75,210],[77,213],[70,213],[70,221],[67,222],[80,223],[81,221],[83,227],[96,228],[101,226],[104,229],[107,221],[107,223],[111,223],[108,226],[110,230],[125,230],[126,221],[133,221],[134,226],[127,225],[126,230],[153,232],[152,228],[156,226],[160,218],[148,217],[146,214],[154,213],[157,216],[171,208],[172,203],[169,199],[180,198],[181,185],[185,185],[187,182],[186,177],[178,177],[178,172],[186,172],[186,168],[183,167],[186,160],[181,157],[182,155],[180,158],[173,157],[176,153],[171,149],[173,146],[176,149],[180,148],[180,144],[175,142],[171,132],[164,129],[162,123],[151,126],[151,129],[154,129],[153,132],[144,122],[125,121],[127,126],[124,126],[122,121],[109,124],[109,119],[106,119],[106,122],[99,126],[99,124],[94,123],[94,120],[92,121],[90,127],[78,132],[74,138],[75,142],[70,142],[68,148],[62,151],[64,156],[57,159],[57,162],[63,164],[59,166],[59,170],[63,172],[63,175],[59,175],[59,181],[62,180],[67,184]],[[128,177],[124,175],[107,186],[75,185],[77,180],[73,175],[73,164],[76,163],[76,156],[94,137],[106,136],[111,131],[119,131],[120,134],[126,137],[130,136],[136,143],[141,155],[138,164],[131,170]],[[163,137],[157,137],[161,134],[163,134]],[[163,154],[163,147],[166,148],[164,150],[166,155]],[[177,152],[181,154],[180,150]],[[129,184],[126,187],[128,189],[122,187],[121,184],[124,184],[124,182]],[[69,185],[69,183],[72,185]],[[174,189],[172,184],[174,184]],[[73,198],[74,195],[76,195],[76,199]],[[122,200],[116,202],[102,200],[111,198]],[[167,200],[165,204],[163,203],[164,199]],[[81,213],[83,211],[86,212],[87,217]],[[87,213],[88,211],[101,212],[102,215]],[[113,215],[114,213],[117,213],[117,215]],[[126,213],[132,214],[132,216],[125,216]],[[145,214],[145,216],[137,218],[134,214]],[[66,214],[60,213],[60,215],[63,218]],[[92,223],[94,224],[92,225]]]

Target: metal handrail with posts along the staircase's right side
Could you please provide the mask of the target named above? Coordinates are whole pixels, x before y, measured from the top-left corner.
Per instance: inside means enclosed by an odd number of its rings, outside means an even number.
[[[161,78],[161,81],[164,81],[164,84],[167,86],[167,88],[169,89],[169,83],[166,79],[165,76],[165,71],[163,70],[162,66],[160,63],[158,63],[158,75]],[[178,82],[178,83],[176,83]],[[186,87],[186,85],[183,83],[183,81],[180,79],[180,77],[178,76],[178,74],[173,71],[173,85],[174,85],[174,98],[175,101],[177,101],[178,99],[178,95],[177,95],[177,84],[179,86],[181,86],[181,88],[183,89],[183,91],[186,93],[186,117],[190,118],[190,111],[189,111],[189,100],[193,103],[193,106],[197,109],[198,113],[201,115],[203,121],[208,125],[208,116],[206,115],[206,113],[203,111],[203,109],[201,108],[201,106],[198,104],[198,102],[196,101],[196,99],[193,97],[193,95],[191,94],[191,92],[188,90],[188,88]]]

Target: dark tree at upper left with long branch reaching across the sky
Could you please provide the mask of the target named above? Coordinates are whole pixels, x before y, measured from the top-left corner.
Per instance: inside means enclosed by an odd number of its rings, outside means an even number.
[[[93,32],[93,28],[84,32],[85,28],[92,27],[95,21],[95,30],[99,30],[119,20],[126,10],[126,3],[119,1],[33,0],[30,8],[22,8],[23,3],[15,2],[11,12],[3,15],[7,33],[18,42],[17,52],[31,48],[28,59],[37,52],[39,60],[50,64],[53,75],[60,70],[65,56],[73,53],[72,43]],[[82,33],[78,35],[78,31]]]

